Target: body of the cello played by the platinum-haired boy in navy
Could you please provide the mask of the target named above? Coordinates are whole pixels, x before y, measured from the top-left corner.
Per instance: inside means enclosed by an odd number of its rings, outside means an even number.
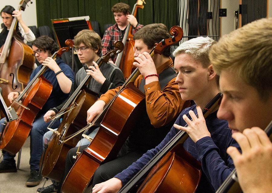
[[[137,193],[194,193],[200,177],[201,164],[178,144],[153,167]]]

